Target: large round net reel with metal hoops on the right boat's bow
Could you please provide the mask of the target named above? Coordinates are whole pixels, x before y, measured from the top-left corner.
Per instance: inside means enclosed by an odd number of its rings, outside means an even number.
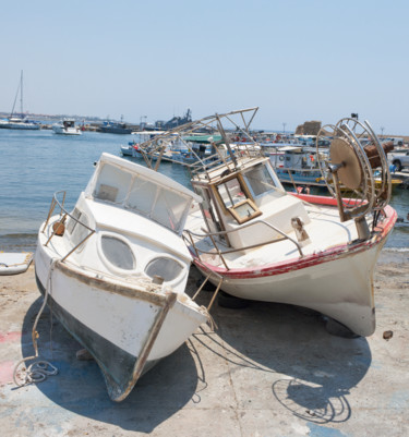
[[[318,144],[330,139],[329,151]],[[323,126],[316,137],[317,161],[329,193],[337,199],[341,221],[354,219],[359,239],[370,236],[365,215],[380,211],[389,203],[390,173],[385,147],[368,121],[345,118]]]

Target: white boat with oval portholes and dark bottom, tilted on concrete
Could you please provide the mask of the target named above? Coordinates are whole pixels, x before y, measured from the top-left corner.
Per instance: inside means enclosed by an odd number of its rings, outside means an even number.
[[[103,154],[71,213],[64,199],[55,194],[38,232],[37,284],[98,363],[109,397],[122,401],[143,373],[207,320],[207,311],[184,293],[191,257],[181,239],[191,204],[201,198]]]

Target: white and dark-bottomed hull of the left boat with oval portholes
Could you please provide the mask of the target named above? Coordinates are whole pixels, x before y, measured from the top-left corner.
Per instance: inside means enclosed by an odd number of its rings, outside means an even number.
[[[146,291],[52,263],[40,245],[35,268],[48,305],[94,356],[115,401],[125,399],[144,372],[206,320],[197,305],[183,304],[175,292]]]

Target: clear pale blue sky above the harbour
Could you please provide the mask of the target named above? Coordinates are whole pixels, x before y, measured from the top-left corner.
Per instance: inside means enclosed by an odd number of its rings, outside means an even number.
[[[260,107],[255,129],[352,112],[409,135],[407,0],[2,2],[0,111],[131,123]]]

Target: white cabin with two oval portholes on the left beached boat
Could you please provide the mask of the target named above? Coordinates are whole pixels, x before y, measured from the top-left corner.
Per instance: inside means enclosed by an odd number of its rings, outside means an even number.
[[[103,154],[69,214],[62,253],[107,275],[160,276],[183,292],[191,258],[180,236],[193,201],[202,199],[170,178]]]

